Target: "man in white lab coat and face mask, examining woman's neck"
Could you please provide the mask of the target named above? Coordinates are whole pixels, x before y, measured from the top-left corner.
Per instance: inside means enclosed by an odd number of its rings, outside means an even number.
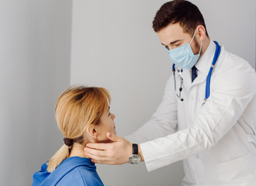
[[[183,160],[182,185],[255,185],[254,69],[209,38],[191,2],[166,2],[153,28],[174,64],[161,104],[126,139],[107,133],[113,143],[88,143],[86,156],[99,164],[144,160],[148,171]]]

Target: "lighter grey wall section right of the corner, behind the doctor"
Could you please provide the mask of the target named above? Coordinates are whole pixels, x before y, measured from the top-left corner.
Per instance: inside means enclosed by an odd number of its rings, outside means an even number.
[[[166,1],[73,1],[71,84],[107,88],[119,136],[150,119],[171,74],[151,22]],[[209,36],[255,67],[255,1],[194,0]],[[147,173],[138,166],[98,165],[106,185],[178,185],[181,162]]]

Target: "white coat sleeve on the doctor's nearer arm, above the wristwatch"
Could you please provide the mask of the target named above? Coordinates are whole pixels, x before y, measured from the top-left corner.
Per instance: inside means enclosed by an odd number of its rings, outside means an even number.
[[[245,66],[240,65],[239,71],[229,67],[216,79],[206,104],[188,129],[140,144],[148,171],[208,150],[225,136],[256,95],[255,72]]]

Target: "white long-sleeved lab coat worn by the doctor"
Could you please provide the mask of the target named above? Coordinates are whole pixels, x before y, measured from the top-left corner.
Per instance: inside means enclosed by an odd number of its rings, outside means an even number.
[[[247,61],[221,47],[205,105],[213,40],[195,64],[192,82],[185,69],[181,102],[173,75],[149,122],[126,136],[140,143],[148,171],[183,160],[182,185],[256,185],[256,74]],[[180,77],[176,75],[177,91]]]

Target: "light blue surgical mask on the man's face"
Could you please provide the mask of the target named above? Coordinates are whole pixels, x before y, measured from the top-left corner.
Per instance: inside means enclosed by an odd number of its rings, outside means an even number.
[[[177,67],[191,69],[195,65],[197,60],[199,60],[199,56],[202,48],[202,42],[200,44],[199,53],[194,54],[190,47],[194,37],[195,37],[195,33],[190,43],[186,43],[185,45],[182,45],[181,47],[175,48],[173,50],[168,50],[168,54],[171,59],[171,62],[174,63]]]

